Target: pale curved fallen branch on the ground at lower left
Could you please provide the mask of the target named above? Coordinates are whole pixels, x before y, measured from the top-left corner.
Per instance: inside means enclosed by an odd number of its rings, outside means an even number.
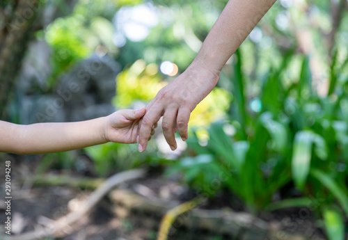
[[[77,211],[74,211],[54,221],[52,227],[45,227],[40,230],[27,232],[15,237],[8,237],[4,240],[38,240],[44,237],[63,237],[63,235],[65,235],[65,233],[63,233],[63,230],[70,228],[71,225],[88,214],[93,209],[93,207],[95,207],[95,205],[97,205],[97,203],[102,200],[104,195],[106,195],[106,193],[109,193],[109,191],[111,191],[111,189],[113,189],[116,185],[144,176],[145,170],[142,169],[127,170],[122,173],[117,173],[116,175],[109,177],[109,179],[106,179],[106,181],[90,195],[90,197]]]

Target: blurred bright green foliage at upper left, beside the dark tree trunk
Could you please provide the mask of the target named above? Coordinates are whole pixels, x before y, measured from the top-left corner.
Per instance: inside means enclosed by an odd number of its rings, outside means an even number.
[[[74,64],[93,54],[98,46],[103,46],[108,54],[115,56],[118,48],[112,42],[113,15],[122,6],[134,6],[142,1],[78,1],[71,15],[59,17],[45,31],[39,31],[37,37],[45,39],[52,50],[52,73],[47,79],[49,89],[54,88],[61,72],[66,72]],[[56,4],[63,12],[69,11],[69,6],[64,1],[49,1],[47,4]]]

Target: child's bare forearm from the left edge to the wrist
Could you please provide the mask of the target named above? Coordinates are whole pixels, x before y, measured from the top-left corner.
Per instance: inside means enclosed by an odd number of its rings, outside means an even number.
[[[0,122],[0,152],[42,154],[106,143],[105,118],[84,122],[14,125]]]

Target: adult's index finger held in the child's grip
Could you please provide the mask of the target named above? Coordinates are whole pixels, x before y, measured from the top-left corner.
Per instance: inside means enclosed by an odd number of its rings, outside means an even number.
[[[140,129],[139,129],[139,152],[145,151],[148,146],[148,138],[151,134],[152,126],[155,122],[159,121],[161,118],[161,107],[152,107],[144,115],[143,120],[141,120]]]

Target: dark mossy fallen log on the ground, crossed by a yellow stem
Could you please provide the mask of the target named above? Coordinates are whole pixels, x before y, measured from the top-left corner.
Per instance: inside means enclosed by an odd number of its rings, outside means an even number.
[[[197,198],[191,200],[193,202],[180,205],[176,200],[146,198],[129,189],[114,189],[109,198],[113,201],[113,211],[119,218],[140,221],[139,223],[148,228],[157,228],[161,218],[171,211],[171,217],[174,216],[175,219],[167,218],[169,221],[174,220],[173,227],[170,224],[167,229],[171,227],[168,235],[171,234],[172,238],[176,230],[184,227],[188,230],[207,230],[214,234],[225,234],[231,239],[308,240],[300,234],[291,234],[281,231],[278,227],[271,227],[269,223],[246,212],[235,212],[226,208],[219,210],[195,208],[198,203]],[[160,234],[166,235],[166,231],[163,230],[164,228],[159,230],[157,237],[160,237]]]

